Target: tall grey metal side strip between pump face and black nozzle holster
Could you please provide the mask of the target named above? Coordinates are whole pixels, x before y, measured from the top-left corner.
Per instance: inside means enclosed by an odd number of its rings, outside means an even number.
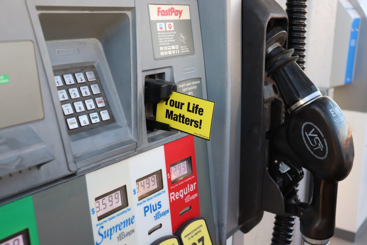
[[[215,180],[217,233],[219,244],[225,244],[226,238],[239,228],[241,1],[214,4],[200,0],[198,5],[209,81],[207,96],[215,101],[209,154]]]

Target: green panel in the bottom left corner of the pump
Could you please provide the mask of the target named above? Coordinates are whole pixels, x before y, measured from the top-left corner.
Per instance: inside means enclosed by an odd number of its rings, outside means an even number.
[[[0,240],[28,228],[31,245],[39,245],[32,196],[0,207]]]

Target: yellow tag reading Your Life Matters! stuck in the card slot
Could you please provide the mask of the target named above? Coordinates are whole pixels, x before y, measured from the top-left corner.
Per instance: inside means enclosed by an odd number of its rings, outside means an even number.
[[[210,139],[214,102],[172,92],[157,104],[156,120],[194,136]]]

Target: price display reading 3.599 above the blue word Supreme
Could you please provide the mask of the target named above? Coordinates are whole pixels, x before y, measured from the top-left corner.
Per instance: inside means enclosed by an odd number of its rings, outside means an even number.
[[[126,185],[95,198],[95,212],[101,220],[128,206]]]

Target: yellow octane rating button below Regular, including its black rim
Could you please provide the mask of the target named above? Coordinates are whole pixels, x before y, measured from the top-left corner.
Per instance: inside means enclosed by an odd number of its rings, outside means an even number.
[[[193,218],[183,223],[175,232],[182,245],[212,245],[204,218]]]

